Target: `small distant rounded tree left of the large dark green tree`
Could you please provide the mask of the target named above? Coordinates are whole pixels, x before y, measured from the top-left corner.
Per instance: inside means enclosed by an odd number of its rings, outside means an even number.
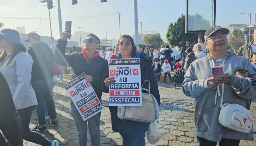
[[[144,37],[144,41],[147,44],[150,44],[152,47],[160,47],[161,44],[163,44],[163,39],[161,39],[161,36],[158,34],[150,34]]]

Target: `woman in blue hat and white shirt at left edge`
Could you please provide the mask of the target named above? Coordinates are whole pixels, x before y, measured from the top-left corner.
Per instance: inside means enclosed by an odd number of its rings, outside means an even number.
[[[29,128],[32,111],[38,104],[30,85],[33,60],[20,42],[19,33],[12,29],[1,30],[0,48],[4,50],[0,56],[0,72],[9,85],[20,116],[22,139],[42,146],[58,146],[58,141],[48,141],[43,135]]]

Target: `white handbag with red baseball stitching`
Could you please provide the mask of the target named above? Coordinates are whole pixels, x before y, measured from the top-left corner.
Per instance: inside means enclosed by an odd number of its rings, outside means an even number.
[[[219,123],[228,129],[244,133],[251,132],[254,127],[252,112],[238,104],[223,104]]]

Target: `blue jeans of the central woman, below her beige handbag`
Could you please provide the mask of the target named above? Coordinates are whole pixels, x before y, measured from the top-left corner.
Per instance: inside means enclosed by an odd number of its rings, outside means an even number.
[[[145,133],[149,124],[125,120],[125,133],[119,132],[123,138],[123,146],[145,146]]]

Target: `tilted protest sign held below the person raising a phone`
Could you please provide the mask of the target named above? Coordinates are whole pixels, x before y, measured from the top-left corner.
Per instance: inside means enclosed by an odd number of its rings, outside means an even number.
[[[100,100],[90,82],[85,80],[85,76],[86,74],[82,73],[64,85],[84,121],[102,111]]]

